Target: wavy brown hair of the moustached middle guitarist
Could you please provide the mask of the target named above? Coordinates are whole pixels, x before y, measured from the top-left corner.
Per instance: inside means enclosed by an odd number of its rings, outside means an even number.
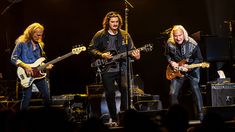
[[[105,30],[108,30],[109,29],[109,20],[112,18],[112,17],[118,17],[118,20],[119,20],[119,29],[122,27],[122,24],[123,24],[123,21],[122,21],[122,17],[119,13],[115,12],[115,11],[110,11],[108,12],[104,19],[103,19],[103,28]]]

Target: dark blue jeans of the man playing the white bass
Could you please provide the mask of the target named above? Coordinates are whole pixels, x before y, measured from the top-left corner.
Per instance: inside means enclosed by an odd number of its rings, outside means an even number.
[[[46,79],[35,80],[33,83],[37,86],[39,92],[41,92],[42,94],[43,103],[44,103],[43,105],[49,106],[50,92],[49,92],[48,82],[46,81]],[[20,110],[26,110],[28,108],[31,96],[32,96],[32,85],[28,88],[23,88]]]

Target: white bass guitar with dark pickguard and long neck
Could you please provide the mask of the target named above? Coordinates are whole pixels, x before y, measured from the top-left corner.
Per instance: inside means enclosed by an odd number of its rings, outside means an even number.
[[[41,57],[38,60],[36,60],[32,64],[28,64],[30,67],[33,69],[33,74],[32,75],[27,75],[25,72],[25,69],[22,67],[17,68],[17,76],[20,79],[20,84],[23,86],[23,88],[27,88],[32,85],[33,81],[36,79],[42,79],[46,77],[46,73],[43,72],[43,70],[49,65],[49,64],[54,64],[56,62],[59,62],[67,57],[70,57],[74,54],[80,54],[80,52],[85,51],[86,47],[85,46],[80,46],[78,48],[73,48],[71,52],[57,57],[54,60],[51,60],[45,64],[43,64],[43,61],[46,60],[46,58]]]

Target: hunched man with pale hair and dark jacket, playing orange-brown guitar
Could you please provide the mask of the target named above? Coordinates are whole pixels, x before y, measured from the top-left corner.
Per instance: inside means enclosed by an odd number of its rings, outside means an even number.
[[[203,101],[199,88],[200,68],[188,67],[190,64],[200,63],[203,60],[198,43],[188,36],[182,25],[175,25],[170,32],[165,55],[170,67],[173,69],[172,71],[180,71],[184,74],[171,79],[169,93],[171,105],[179,103],[179,91],[182,89],[184,82],[188,80],[198,106],[198,117],[202,120]]]

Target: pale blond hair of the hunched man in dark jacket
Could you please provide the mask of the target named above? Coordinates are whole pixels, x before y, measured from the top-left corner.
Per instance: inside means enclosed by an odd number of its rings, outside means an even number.
[[[185,30],[185,28],[182,25],[174,25],[171,32],[170,32],[170,38],[169,38],[168,42],[175,44],[173,32],[176,30],[181,30],[183,32],[185,41],[189,40],[188,32]]]

